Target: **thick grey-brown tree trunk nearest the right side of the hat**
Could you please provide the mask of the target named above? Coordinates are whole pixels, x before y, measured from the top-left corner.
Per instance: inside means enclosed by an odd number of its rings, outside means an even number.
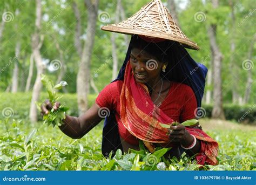
[[[218,0],[212,0],[213,8],[218,7]],[[223,97],[221,89],[221,62],[222,54],[216,41],[217,25],[211,24],[208,28],[208,37],[210,38],[210,45],[213,58],[213,110],[212,118],[225,119],[223,109]]]

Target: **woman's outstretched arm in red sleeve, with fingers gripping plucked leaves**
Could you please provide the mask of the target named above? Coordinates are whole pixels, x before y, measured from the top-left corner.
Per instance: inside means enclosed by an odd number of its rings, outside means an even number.
[[[64,125],[59,127],[61,131],[73,139],[82,138],[86,133],[88,133],[104,118],[104,111],[107,110],[107,112],[109,112],[114,109],[114,102],[116,101],[116,98],[119,97],[119,94],[117,93],[119,90],[118,83],[119,81],[116,81],[104,87],[96,98],[96,104],[93,104],[90,109],[78,118],[66,115],[66,118],[62,120]],[[57,110],[59,105],[59,102],[55,102],[53,108]],[[45,100],[41,109],[42,115],[48,114],[52,109],[51,102],[49,100]]]

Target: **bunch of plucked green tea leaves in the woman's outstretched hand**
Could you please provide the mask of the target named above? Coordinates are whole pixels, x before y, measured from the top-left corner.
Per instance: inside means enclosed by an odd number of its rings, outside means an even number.
[[[61,90],[62,87],[68,85],[68,83],[66,83],[66,81],[60,81],[59,84],[54,86],[52,80],[49,79],[45,74],[41,74],[41,81],[48,92],[51,104],[54,105],[56,101],[63,97],[63,95],[57,95],[56,90]],[[38,103],[37,108],[39,111],[41,111],[41,107]],[[43,116],[44,124],[52,124],[53,127],[55,127],[55,125],[62,125],[62,120],[65,119],[65,112],[68,111],[68,109],[69,108],[66,107],[65,104],[60,105],[57,110],[52,107],[49,114],[44,114]]]

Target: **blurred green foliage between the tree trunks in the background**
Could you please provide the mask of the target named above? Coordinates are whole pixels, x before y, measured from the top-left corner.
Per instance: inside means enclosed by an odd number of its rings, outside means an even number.
[[[130,17],[137,12],[140,7],[149,1],[122,1],[124,6],[125,16]],[[163,1],[167,5],[166,1]],[[82,44],[86,40],[86,7],[82,1],[76,1],[82,19]],[[247,71],[242,69],[242,61],[248,59],[248,50],[250,42],[255,33],[255,11],[253,8],[255,2],[253,0],[247,1],[233,1],[235,13],[235,26],[232,27],[231,21],[231,7],[228,0],[220,1],[218,9],[213,9],[211,1],[176,1],[179,23],[181,30],[194,42],[200,46],[200,51],[188,50],[192,58],[203,63],[209,69],[211,65],[211,50],[210,43],[207,36],[207,26],[212,23],[217,23],[217,42],[220,51],[223,53],[222,64],[222,78],[223,78],[223,95],[224,102],[232,102],[232,83],[238,85],[238,93],[241,97],[244,96],[247,80]],[[41,49],[44,61],[48,63],[52,60],[59,60],[59,53],[53,40],[53,35],[56,36],[57,42],[64,52],[65,65],[68,70],[63,80],[67,81],[69,86],[66,87],[68,92],[76,92],[76,76],[78,71],[79,56],[74,46],[74,35],[76,19],[72,9],[72,1],[43,1],[43,21],[42,21],[42,35],[44,35],[44,42]],[[168,5],[167,5],[168,6]],[[254,6],[255,7],[255,6]],[[15,10],[19,9],[19,14],[15,15]],[[18,59],[18,64],[21,68],[19,73],[19,91],[24,91],[26,77],[28,76],[28,68],[31,54],[31,35],[34,31],[35,24],[35,2],[22,0],[1,2],[0,12],[11,11],[14,13],[14,19],[11,22],[5,23],[3,38],[1,39],[0,47],[0,66],[3,68],[8,64],[10,58],[15,56],[15,45],[17,40],[21,40],[22,50],[21,57]],[[91,77],[95,80],[98,90],[102,90],[111,81],[112,77],[112,46],[111,34],[100,30],[100,27],[114,22],[116,15],[116,1],[100,1],[99,13],[106,12],[109,15],[109,21],[100,22],[97,20],[95,45],[93,47],[92,61],[91,61]],[[203,12],[205,20],[197,22],[194,16],[197,12]],[[53,21],[52,21],[53,19]],[[245,21],[243,21],[245,19]],[[129,36],[130,38],[130,36]],[[231,53],[230,42],[234,38],[236,45],[235,53]],[[118,54],[118,68],[123,63],[127,45],[125,44],[124,35],[117,34],[117,54]],[[255,60],[255,47],[253,46],[252,61]],[[234,54],[233,71],[237,78],[231,76],[230,73],[230,57]],[[14,64],[12,63],[5,72],[0,76],[0,91],[5,91],[8,85],[11,84],[11,76]],[[55,81],[57,79],[58,71],[48,71],[50,77]],[[96,74],[97,73],[97,74]],[[32,84],[35,81],[36,69],[34,69]],[[252,79],[255,79],[255,70],[252,70]],[[255,81],[255,80],[254,80]],[[255,103],[256,87],[253,81],[252,93],[249,103]],[[31,86],[32,88],[32,86]],[[212,90],[212,86],[206,86],[206,90]],[[93,93],[93,90],[91,89]]]

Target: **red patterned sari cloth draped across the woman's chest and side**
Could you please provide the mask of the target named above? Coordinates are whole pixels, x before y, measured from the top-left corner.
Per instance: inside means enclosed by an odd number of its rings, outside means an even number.
[[[120,119],[124,127],[136,138],[145,142],[169,143],[167,128],[160,124],[171,125],[173,120],[153,104],[145,84],[137,83],[132,74],[130,62],[127,63],[124,83],[120,95]],[[199,164],[218,163],[218,143],[200,129],[186,128],[198,140],[204,141],[196,156]]]

